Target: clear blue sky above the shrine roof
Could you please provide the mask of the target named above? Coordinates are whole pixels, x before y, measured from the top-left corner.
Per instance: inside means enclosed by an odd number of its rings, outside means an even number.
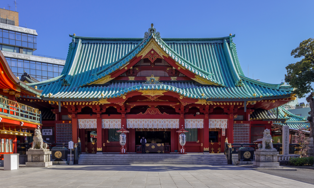
[[[38,33],[34,53],[66,58],[71,38],[143,37],[151,23],[162,38],[236,34],[233,42],[245,76],[280,83],[290,56],[313,37],[314,1],[21,1],[19,25]],[[1,8],[14,7],[2,0]],[[15,10],[15,7],[13,8]],[[12,9],[11,9],[12,10]],[[305,99],[299,99],[305,102]]]

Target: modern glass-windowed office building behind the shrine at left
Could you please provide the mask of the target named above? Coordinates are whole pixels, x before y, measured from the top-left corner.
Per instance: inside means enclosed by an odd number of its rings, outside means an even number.
[[[0,23],[0,50],[14,75],[20,78],[26,72],[38,81],[60,76],[65,60],[35,55],[38,36],[36,30],[16,24],[19,23],[19,13],[1,8],[0,12],[2,19],[8,17],[12,21]]]

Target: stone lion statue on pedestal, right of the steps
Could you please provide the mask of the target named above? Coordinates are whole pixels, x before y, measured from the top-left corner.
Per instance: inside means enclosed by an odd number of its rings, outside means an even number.
[[[265,129],[262,144],[258,144],[258,149],[254,151],[255,161],[253,161],[254,168],[283,168],[279,167],[277,162],[277,155],[279,152],[273,148],[272,137],[270,130]]]

